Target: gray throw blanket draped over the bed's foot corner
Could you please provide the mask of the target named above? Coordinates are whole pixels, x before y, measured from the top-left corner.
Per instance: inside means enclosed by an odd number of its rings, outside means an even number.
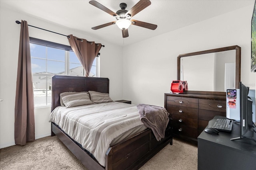
[[[164,138],[164,132],[169,122],[169,113],[163,107],[146,104],[137,105],[140,120],[144,125],[152,129],[156,140]]]

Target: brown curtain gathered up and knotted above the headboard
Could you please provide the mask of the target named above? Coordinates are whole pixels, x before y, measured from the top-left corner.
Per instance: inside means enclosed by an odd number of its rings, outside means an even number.
[[[101,44],[95,44],[94,42],[88,42],[86,39],[80,39],[73,37],[73,35],[68,35],[68,41],[70,46],[76,56],[78,57],[80,63],[86,71],[86,77],[89,76],[90,70],[92,68],[92,63],[100,51]]]

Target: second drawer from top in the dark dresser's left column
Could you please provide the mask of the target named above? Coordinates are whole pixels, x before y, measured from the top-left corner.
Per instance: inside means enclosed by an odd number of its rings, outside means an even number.
[[[198,109],[196,108],[167,105],[167,111],[170,114],[176,114],[180,116],[187,116],[198,119]]]

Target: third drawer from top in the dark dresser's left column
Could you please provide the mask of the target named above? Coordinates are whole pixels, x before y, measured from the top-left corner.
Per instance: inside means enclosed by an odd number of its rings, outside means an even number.
[[[172,114],[172,123],[173,124],[179,124],[186,127],[192,127],[197,129],[198,128],[198,119],[186,117],[186,116],[180,116],[176,114]]]

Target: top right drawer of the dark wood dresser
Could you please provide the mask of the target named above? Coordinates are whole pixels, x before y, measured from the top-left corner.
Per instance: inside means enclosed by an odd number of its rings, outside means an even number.
[[[199,109],[226,112],[226,101],[199,99]]]

